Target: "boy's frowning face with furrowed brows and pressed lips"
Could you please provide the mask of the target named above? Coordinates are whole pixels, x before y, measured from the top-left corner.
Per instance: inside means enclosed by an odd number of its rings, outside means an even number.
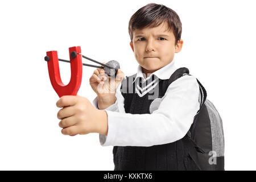
[[[133,31],[130,46],[146,77],[147,73],[153,73],[171,63],[174,53],[180,52],[183,46],[183,40],[175,46],[175,36],[167,29],[168,24],[164,22],[158,27]]]

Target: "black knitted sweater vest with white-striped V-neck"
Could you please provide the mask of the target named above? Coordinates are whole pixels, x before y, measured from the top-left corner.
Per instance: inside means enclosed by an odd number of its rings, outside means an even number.
[[[180,73],[178,77],[181,75],[183,75],[183,73]],[[140,79],[137,79],[134,83],[132,83],[135,77],[136,74],[126,77],[126,79],[121,83],[121,93],[125,98],[125,112],[131,114],[150,114],[151,102],[155,98],[162,98],[171,82],[176,80],[176,78],[172,76],[167,80],[159,79],[159,85],[156,85],[154,89],[144,94],[144,96],[139,97],[138,94],[135,93],[135,86],[138,84]],[[154,77],[156,76],[152,75],[152,79],[154,79]],[[141,82],[139,82],[139,84],[141,85]],[[151,97],[150,99],[148,99],[149,96]],[[173,143],[160,144],[150,147],[114,146],[113,155],[114,171],[199,170],[188,155],[187,148],[185,147],[182,139]]]

